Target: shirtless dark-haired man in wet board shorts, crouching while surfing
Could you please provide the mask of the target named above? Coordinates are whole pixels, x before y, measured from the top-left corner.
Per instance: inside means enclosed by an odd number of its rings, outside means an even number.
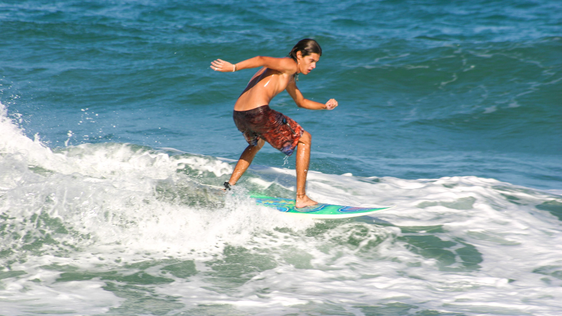
[[[338,106],[338,102],[334,99],[328,100],[325,104],[308,100],[297,88],[298,74],[309,74],[316,68],[316,62],[321,55],[322,49],[315,40],[303,39],[293,47],[288,57],[256,56],[236,64],[220,59],[211,62],[211,69],[222,72],[262,67],[252,76],[250,83],[234,104],[234,123],[250,145],[242,152],[230,180],[224,183],[227,189],[236,184],[252,163],[253,157],[267,141],[285,155],[291,155],[297,147],[296,207],[318,204],[305,192],[312,137],[288,116],[271,110],[269,102],[286,89],[298,107],[310,110],[332,110]]]

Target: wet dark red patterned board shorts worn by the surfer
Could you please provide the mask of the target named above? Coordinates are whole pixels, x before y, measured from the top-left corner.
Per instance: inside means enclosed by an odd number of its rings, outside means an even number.
[[[248,144],[257,146],[257,141],[261,138],[287,156],[293,154],[294,147],[297,147],[298,139],[304,132],[296,121],[271,110],[268,105],[247,111],[234,111],[232,117]]]

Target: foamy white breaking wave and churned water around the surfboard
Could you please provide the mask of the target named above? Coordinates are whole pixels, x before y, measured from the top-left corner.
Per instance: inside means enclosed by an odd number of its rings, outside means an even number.
[[[201,185],[232,161],[126,143],[51,150],[0,113],[3,315],[562,310],[558,192],[312,172],[318,200],[398,207],[300,219],[253,205],[242,188]],[[253,190],[294,189],[294,170],[256,166],[250,177]]]

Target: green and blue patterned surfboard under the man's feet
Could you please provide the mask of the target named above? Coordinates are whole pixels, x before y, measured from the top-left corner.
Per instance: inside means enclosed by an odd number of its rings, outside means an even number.
[[[278,211],[291,215],[298,215],[306,218],[316,218],[316,219],[349,218],[355,216],[363,216],[363,215],[379,213],[395,207],[395,206],[387,206],[387,207],[378,207],[378,208],[368,208],[368,207],[353,207],[353,206],[319,203],[317,205],[306,206],[297,209],[295,207],[295,201],[291,200],[290,198],[260,196],[260,195],[252,195],[250,197],[256,200],[257,205],[273,207]]]

